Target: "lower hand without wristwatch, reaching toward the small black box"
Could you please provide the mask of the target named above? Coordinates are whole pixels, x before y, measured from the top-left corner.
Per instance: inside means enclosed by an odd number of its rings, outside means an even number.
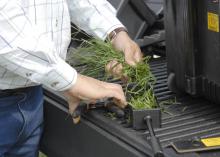
[[[80,101],[95,102],[98,99],[114,98],[117,105],[124,108],[127,105],[122,87],[118,84],[107,83],[91,77],[78,74],[77,81],[64,92],[69,103],[69,112],[73,113]]]

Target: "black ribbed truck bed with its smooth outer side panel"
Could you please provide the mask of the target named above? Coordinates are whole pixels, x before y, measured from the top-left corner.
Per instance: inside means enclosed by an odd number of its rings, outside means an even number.
[[[203,98],[175,95],[167,87],[165,59],[150,63],[157,79],[154,93],[162,104],[162,127],[155,129],[167,157],[218,157],[220,151],[178,154],[171,142],[220,136],[220,105]],[[49,157],[151,157],[149,133],[136,131],[104,109],[92,110],[73,125],[63,98],[45,90],[45,131],[41,150]]]

